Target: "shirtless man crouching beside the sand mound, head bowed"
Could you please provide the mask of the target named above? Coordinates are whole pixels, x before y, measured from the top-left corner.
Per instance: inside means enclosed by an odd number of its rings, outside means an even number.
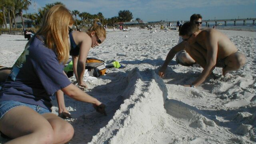
[[[246,63],[244,54],[237,51],[236,46],[223,33],[214,30],[200,30],[194,22],[186,22],[180,29],[179,35],[186,42],[186,52],[204,70],[190,86],[196,88],[212,73],[215,67],[222,68],[222,74],[232,70],[239,70]],[[166,67],[175,53],[182,48],[175,47],[170,50],[163,66],[159,70],[159,76],[164,76]]]

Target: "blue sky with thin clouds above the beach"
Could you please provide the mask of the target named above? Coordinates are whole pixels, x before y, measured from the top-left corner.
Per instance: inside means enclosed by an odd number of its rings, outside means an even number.
[[[71,11],[101,12],[105,18],[129,10],[134,20],[144,22],[189,20],[192,14],[201,14],[203,20],[256,18],[256,0],[31,0],[28,13],[36,12],[34,2],[37,12],[45,4],[62,2]]]

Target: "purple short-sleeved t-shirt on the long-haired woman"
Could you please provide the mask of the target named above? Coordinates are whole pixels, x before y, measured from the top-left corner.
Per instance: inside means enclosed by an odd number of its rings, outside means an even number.
[[[2,84],[0,101],[14,100],[50,110],[50,96],[70,84],[55,52],[33,37]]]

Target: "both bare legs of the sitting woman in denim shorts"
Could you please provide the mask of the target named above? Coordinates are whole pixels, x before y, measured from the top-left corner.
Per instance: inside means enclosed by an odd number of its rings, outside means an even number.
[[[0,120],[0,130],[14,138],[6,144],[60,144],[74,134],[73,127],[62,118],[40,115],[26,106],[9,110]]]

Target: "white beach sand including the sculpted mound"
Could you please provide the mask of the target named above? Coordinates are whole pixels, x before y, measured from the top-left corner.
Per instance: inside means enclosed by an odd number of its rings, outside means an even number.
[[[95,112],[91,104],[65,96],[73,116],[67,120],[75,129],[70,144],[256,142],[256,32],[220,30],[245,54],[247,62],[226,77],[216,68],[218,79],[208,78],[195,89],[181,85],[195,80],[200,67],[176,65],[174,59],[165,78],[158,76],[158,68],[178,42],[176,30],[108,31],[105,42],[91,49],[88,57],[107,64],[117,60],[126,68],[108,69],[105,76],[87,82],[86,91],[106,104],[108,116]],[[0,65],[14,64],[27,42],[24,40],[23,36],[0,36]],[[52,109],[57,114],[53,99]]]

